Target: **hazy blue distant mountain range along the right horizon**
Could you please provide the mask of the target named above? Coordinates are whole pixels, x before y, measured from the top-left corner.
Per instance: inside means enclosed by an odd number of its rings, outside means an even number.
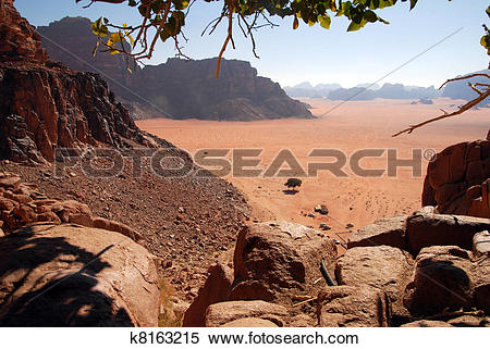
[[[490,71],[485,70],[475,73],[490,74]],[[488,79],[485,77],[475,77],[469,80],[471,83],[488,84]],[[468,86],[467,80],[450,83],[442,90],[438,90],[433,86],[419,87],[405,86],[403,84],[384,84],[381,87],[377,84],[359,84],[356,87],[343,88],[339,84],[319,84],[317,86],[313,86],[308,82],[293,87],[286,86],[284,87],[284,90],[292,98],[308,97],[327,98],[331,100],[372,100],[376,98],[385,98],[411,100],[418,99],[428,101],[438,97],[450,97],[452,99],[463,100],[471,100],[476,97],[476,92]]]

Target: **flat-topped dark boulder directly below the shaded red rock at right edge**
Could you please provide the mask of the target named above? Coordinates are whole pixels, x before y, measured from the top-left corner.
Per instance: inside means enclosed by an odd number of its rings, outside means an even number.
[[[490,229],[489,219],[415,212],[406,220],[408,250],[414,254],[429,246],[458,246],[471,250],[473,236]]]

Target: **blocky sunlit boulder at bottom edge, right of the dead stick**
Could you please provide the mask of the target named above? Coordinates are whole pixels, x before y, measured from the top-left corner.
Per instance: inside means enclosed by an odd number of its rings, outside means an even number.
[[[385,327],[388,297],[369,286],[324,288],[318,295],[317,319],[321,327]]]

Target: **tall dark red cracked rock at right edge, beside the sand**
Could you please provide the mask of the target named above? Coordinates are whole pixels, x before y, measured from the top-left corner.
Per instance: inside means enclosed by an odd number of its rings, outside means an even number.
[[[451,146],[429,163],[422,204],[440,213],[490,217],[490,141]]]

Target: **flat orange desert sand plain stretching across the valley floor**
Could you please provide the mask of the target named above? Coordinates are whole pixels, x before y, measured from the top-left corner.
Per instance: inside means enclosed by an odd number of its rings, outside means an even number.
[[[259,122],[151,119],[138,121],[137,125],[192,154],[204,148],[262,148],[261,169],[266,169],[284,148],[290,149],[304,167],[308,160],[319,160],[308,159],[314,148],[340,149],[347,157],[364,148],[395,148],[399,158],[406,159],[412,157],[414,148],[422,149],[424,153],[427,149],[439,152],[453,144],[485,138],[490,127],[489,109],[480,109],[392,138],[395,132],[441,114],[440,109],[453,110],[463,101],[437,99],[431,105],[381,99],[346,103],[321,99],[304,101],[313,107],[311,112],[317,119]],[[379,159],[362,161],[363,166],[370,169],[385,169],[385,153]],[[226,179],[245,194],[253,207],[254,219],[286,220],[315,228],[327,223],[332,227],[327,234],[346,239],[350,230],[377,219],[411,213],[420,208],[427,163],[422,157],[422,175],[415,177],[409,169],[399,169],[396,177],[383,175],[379,178],[357,176],[348,165],[344,167],[348,177],[335,177],[323,171],[318,177],[302,178],[303,185],[295,195],[283,192],[286,178],[226,176]],[[306,213],[313,212],[319,203],[328,207],[329,215],[307,216]],[[354,228],[347,229],[347,223]]]

